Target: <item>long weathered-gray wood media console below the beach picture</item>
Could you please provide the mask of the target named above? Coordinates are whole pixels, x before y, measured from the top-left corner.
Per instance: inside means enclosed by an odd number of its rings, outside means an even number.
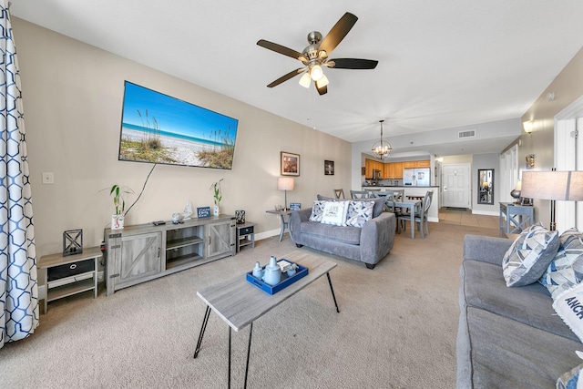
[[[235,217],[193,218],[105,230],[107,296],[122,288],[235,255]]]

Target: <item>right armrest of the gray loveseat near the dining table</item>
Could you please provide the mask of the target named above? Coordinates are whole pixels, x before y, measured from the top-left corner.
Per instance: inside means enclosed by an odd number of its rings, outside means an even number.
[[[391,212],[383,212],[364,223],[361,231],[361,261],[377,263],[393,249],[396,225],[396,218]]]

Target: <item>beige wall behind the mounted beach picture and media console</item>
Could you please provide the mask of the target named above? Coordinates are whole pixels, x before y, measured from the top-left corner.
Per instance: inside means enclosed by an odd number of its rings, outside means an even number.
[[[84,245],[98,245],[114,211],[108,191],[100,189],[117,183],[138,193],[153,166],[118,161],[124,80],[239,119],[232,170],[158,165],[127,224],[169,220],[187,200],[193,208],[211,206],[210,184],[224,179],[224,213],[246,210],[260,236],[279,232],[278,217],[265,210],[283,203],[276,189],[280,151],[301,154],[301,176],[288,201],[306,207],[317,193],[350,186],[346,141],[22,19],[15,17],[13,27],[40,255],[62,251],[64,230],[83,229]],[[324,159],[335,162],[334,176],[324,176]],[[55,184],[43,185],[42,172],[53,172]]]

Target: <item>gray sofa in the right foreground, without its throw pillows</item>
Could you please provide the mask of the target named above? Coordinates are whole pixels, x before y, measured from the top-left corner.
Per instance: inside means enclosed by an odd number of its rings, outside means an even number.
[[[554,388],[578,366],[577,335],[557,316],[547,288],[506,287],[511,240],[465,236],[460,270],[457,387]]]

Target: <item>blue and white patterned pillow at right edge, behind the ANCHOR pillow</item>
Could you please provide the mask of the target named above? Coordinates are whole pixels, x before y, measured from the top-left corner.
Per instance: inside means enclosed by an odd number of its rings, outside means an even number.
[[[583,233],[575,228],[566,230],[559,240],[557,255],[539,280],[553,299],[583,281]]]

